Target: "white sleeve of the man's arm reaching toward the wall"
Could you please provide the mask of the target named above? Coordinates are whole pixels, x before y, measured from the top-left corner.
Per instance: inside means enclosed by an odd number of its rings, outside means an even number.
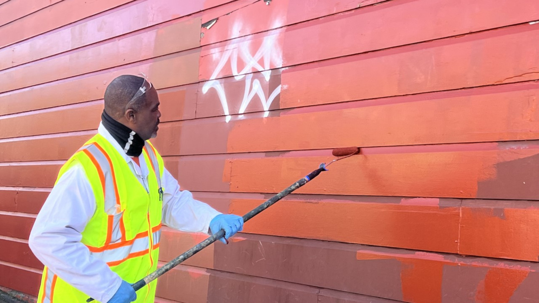
[[[170,228],[208,233],[211,219],[221,214],[210,205],[197,201],[190,191],[180,190],[178,181],[167,169],[163,172],[163,218]]]

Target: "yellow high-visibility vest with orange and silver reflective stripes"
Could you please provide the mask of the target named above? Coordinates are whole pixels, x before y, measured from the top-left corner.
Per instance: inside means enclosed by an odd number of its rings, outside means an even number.
[[[137,180],[125,158],[100,134],[88,140],[60,169],[59,178],[81,164],[95,196],[96,211],[82,232],[81,243],[95,258],[128,283],[157,268],[161,237],[163,159],[148,141],[142,151],[148,166],[148,188]],[[137,291],[135,302],[154,302],[157,281]],[[45,266],[38,303],[86,302],[88,295]]]

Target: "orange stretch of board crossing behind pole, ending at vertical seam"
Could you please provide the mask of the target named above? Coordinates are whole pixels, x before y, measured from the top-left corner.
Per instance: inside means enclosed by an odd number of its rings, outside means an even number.
[[[263,202],[232,199],[229,212],[244,215]],[[440,209],[429,205],[286,199],[246,223],[244,232],[457,252],[457,206]]]

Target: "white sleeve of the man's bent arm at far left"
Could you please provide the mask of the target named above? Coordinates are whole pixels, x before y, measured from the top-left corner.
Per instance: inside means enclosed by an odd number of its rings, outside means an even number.
[[[29,245],[58,277],[89,297],[107,302],[122,279],[80,242],[81,232],[94,212],[91,185],[82,166],[74,166],[60,177],[39,211]]]

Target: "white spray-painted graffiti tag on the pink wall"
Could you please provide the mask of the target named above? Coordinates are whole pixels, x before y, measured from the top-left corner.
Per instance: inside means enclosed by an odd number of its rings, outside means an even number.
[[[278,35],[270,35],[264,38],[262,44],[260,45],[257,52],[254,56],[251,55],[249,51],[250,40],[245,42],[240,42],[234,45],[233,48],[227,49],[222,52],[222,57],[219,60],[215,71],[210,77],[210,80],[204,84],[202,87],[202,92],[205,94],[209,91],[210,88],[215,88],[221,105],[223,106],[224,114],[226,115],[226,122],[229,122],[231,119],[231,113],[229,112],[229,105],[226,100],[226,93],[223,85],[223,81],[216,79],[219,73],[223,70],[223,67],[230,59],[230,67],[232,70],[232,75],[235,80],[245,79],[245,92],[243,99],[241,100],[241,105],[238,111],[238,114],[245,113],[247,106],[250,104],[251,100],[254,98],[254,95],[258,95],[262,108],[264,108],[264,116],[268,115],[269,106],[271,106],[275,97],[281,92],[281,85],[273,89],[273,92],[269,94],[266,98],[263,86],[258,79],[252,79],[253,74],[250,73],[252,69],[261,72],[264,75],[264,80],[266,82],[271,78],[271,65],[273,66],[282,66],[282,51],[278,43],[275,43]],[[220,54],[220,52],[216,52]],[[238,58],[243,60],[245,67],[243,70],[238,71]],[[259,63],[262,61],[263,66]],[[248,73],[248,74],[246,74]]]

